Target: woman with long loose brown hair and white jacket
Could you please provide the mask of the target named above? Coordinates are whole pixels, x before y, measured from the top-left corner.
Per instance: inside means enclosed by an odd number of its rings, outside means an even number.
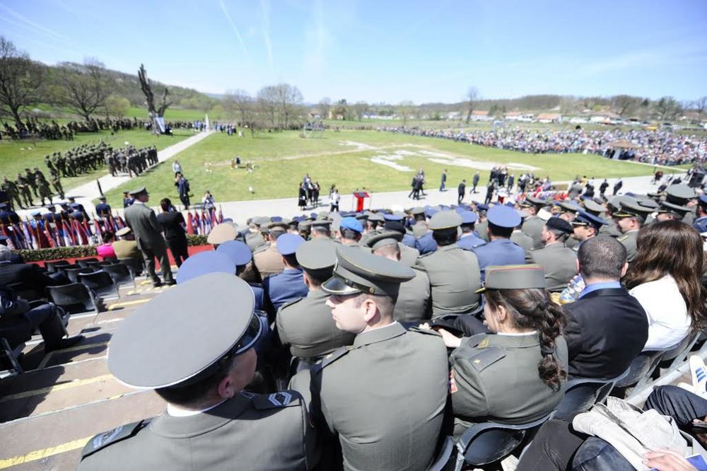
[[[643,349],[674,347],[706,324],[702,238],[686,223],[670,220],[643,226],[636,246],[624,284],[648,315]]]

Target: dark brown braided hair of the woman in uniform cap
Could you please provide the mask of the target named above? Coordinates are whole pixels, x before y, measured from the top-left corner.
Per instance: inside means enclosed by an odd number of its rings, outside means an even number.
[[[494,310],[503,306],[508,311],[515,327],[534,329],[539,332],[540,353],[537,371],[542,382],[559,390],[561,380],[567,377],[555,353],[555,339],[561,335],[565,325],[565,315],[560,306],[550,301],[550,294],[544,289],[489,289],[486,302]]]

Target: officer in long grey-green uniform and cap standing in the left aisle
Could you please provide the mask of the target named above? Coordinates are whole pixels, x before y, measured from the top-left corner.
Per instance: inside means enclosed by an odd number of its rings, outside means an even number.
[[[161,286],[163,281],[165,284],[175,284],[170,260],[167,257],[167,245],[162,237],[162,227],[157,221],[155,211],[145,204],[150,200],[150,194],[145,187],[141,187],[130,192],[130,196],[135,199],[135,202],[125,209],[125,222],[135,234],[137,246],[145,259],[153,286]],[[155,273],[156,258],[162,268],[163,281],[160,281]]]

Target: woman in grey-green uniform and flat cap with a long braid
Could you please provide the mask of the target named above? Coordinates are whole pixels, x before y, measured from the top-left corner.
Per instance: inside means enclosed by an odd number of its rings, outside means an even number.
[[[567,378],[564,314],[550,301],[542,267],[487,267],[482,290],[484,324],[492,333],[458,338],[439,330],[447,347],[455,347],[450,355],[455,436],[483,421],[541,419],[559,404]]]

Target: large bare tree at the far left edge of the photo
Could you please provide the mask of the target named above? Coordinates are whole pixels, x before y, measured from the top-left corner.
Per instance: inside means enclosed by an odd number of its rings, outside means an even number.
[[[11,117],[18,130],[25,129],[23,108],[42,100],[45,66],[0,36],[0,115]]]

